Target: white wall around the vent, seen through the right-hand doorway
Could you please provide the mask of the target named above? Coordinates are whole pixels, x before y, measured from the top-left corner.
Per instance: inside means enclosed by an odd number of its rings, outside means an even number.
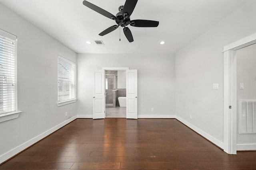
[[[239,113],[239,100],[256,100],[256,44],[240,49],[236,52],[237,58],[237,100]],[[244,89],[239,88],[244,83]],[[239,120],[239,116],[237,117]],[[238,149],[248,144],[256,146],[256,134],[239,134],[239,121],[237,121]],[[244,149],[242,149],[244,150]]]

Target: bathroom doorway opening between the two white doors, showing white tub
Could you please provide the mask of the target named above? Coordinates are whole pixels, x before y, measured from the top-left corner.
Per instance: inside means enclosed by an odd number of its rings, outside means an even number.
[[[126,118],[126,70],[105,70],[106,118]]]

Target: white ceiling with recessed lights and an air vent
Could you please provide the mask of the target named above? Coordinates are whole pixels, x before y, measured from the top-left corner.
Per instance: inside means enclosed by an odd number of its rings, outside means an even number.
[[[158,27],[128,26],[134,42],[129,43],[121,28],[100,36],[115,21],[82,4],[83,0],[0,0],[77,53],[176,53],[228,16],[247,0],[138,0],[131,20],[159,21]],[[125,0],[88,0],[116,15]],[[105,45],[96,45],[102,40]],[[92,44],[86,44],[91,41]],[[160,41],[166,44],[160,45]]]

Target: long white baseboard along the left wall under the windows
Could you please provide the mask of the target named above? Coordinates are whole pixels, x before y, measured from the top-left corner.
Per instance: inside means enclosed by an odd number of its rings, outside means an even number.
[[[53,133],[54,131],[60,129],[61,127],[67,125],[68,123],[72,122],[73,120],[75,120],[77,118],[77,116],[71,117],[70,119],[56,125],[55,127],[49,129],[48,131],[45,131],[44,133],[34,137],[33,139],[30,139],[29,141],[21,144],[20,146],[2,154],[0,156],[0,164],[6,160],[8,160],[9,158],[11,158],[12,156],[18,154],[19,152],[21,152],[22,150],[30,147],[31,145],[33,145],[34,143],[40,141],[41,139],[43,139],[44,137],[47,137],[48,135],[50,135],[51,133]]]

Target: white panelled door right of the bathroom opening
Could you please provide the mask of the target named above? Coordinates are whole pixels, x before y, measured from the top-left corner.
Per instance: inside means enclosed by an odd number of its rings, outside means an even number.
[[[138,119],[137,70],[126,70],[126,118]]]

